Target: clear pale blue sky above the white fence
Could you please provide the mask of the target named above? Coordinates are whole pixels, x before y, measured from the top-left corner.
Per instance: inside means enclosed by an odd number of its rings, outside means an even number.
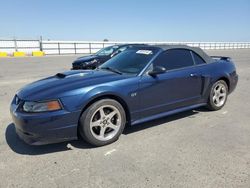
[[[0,0],[0,38],[250,41],[250,0]]]

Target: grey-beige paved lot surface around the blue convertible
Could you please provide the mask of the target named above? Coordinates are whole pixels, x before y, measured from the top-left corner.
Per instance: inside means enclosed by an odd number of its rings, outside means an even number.
[[[0,187],[250,187],[250,50],[231,56],[240,80],[226,106],[199,108],[125,129],[114,144],[29,146],[9,104],[25,84],[68,70],[76,56],[0,59]]]

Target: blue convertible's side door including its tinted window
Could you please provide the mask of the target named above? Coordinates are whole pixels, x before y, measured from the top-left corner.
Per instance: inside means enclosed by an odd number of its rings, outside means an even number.
[[[151,116],[196,104],[201,99],[202,76],[194,65],[191,51],[171,49],[162,52],[151,64],[166,72],[152,77],[145,73],[140,81],[141,116]]]

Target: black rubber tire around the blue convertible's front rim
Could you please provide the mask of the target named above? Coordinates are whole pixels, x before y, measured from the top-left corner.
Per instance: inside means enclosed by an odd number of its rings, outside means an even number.
[[[96,115],[96,113],[98,113],[98,109],[102,108],[105,106],[113,106],[114,108],[116,108],[116,110],[119,111],[119,122],[120,122],[120,126],[118,129],[116,129],[117,133],[114,134],[114,136],[111,139],[108,140],[99,140],[97,139],[94,135],[95,133],[93,132],[93,127],[91,128],[91,122],[92,122],[92,118],[93,116]],[[100,116],[100,120],[102,123],[104,122],[104,120],[101,120],[101,116]],[[110,120],[111,121],[111,120]],[[104,123],[103,123],[104,124]],[[102,125],[103,125],[102,124]],[[90,105],[81,115],[80,117],[80,125],[79,125],[79,132],[81,137],[88,143],[94,145],[94,146],[104,146],[110,143],[115,142],[116,140],[118,140],[119,136],[121,135],[121,133],[124,130],[126,124],[126,114],[125,111],[122,107],[122,105],[113,100],[113,99],[102,99],[99,100],[95,103],[93,103],[92,105]],[[96,127],[94,129],[99,128]],[[100,126],[100,131],[102,129],[102,126]],[[110,129],[110,128],[109,128]],[[111,129],[112,130],[112,129]],[[97,130],[98,131],[98,130]],[[107,131],[107,128],[105,128],[105,131]],[[114,131],[114,132],[116,132]],[[101,134],[101,133],[100,133]]]

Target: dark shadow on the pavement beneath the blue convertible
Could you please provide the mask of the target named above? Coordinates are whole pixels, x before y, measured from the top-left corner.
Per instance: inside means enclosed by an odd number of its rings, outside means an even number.
[[[185,117],[194,118],[194,115],[199,112],[206,111],[204,108],[198,108],[195,110],[185,111],[181,112],[175,115],[166,116],[164,118],[160,118],[157,120],[149,121],[147,123],[141,123],[136,126],[127,126],[123,134],[128,135],[132,134],[134,132],[152,128],[157,125],[161,125],[164,123],[168,123],[171,121],[175,121],[178,119],[182,119]],[[9,147],[12,151],[15,153],[21,154],[21,155],[43,155],[48,153],[55,153],[55,152],[62,152],[62,151],[70,151],[74,147],[78,149],[91,149],[94,148],[90,144],[84,142],[83,140],[75,140],[75,141],[68,141],[68,142],[62,142],[57,144],[49,144],[49,145],[41,145],[41,146],[31,146],[26,144],[24,141],[22,141],[15,131],[15,126],[13,123],[9,124],[5,131],[5,139]],[[73,147],[73,148],[72,148]]]

